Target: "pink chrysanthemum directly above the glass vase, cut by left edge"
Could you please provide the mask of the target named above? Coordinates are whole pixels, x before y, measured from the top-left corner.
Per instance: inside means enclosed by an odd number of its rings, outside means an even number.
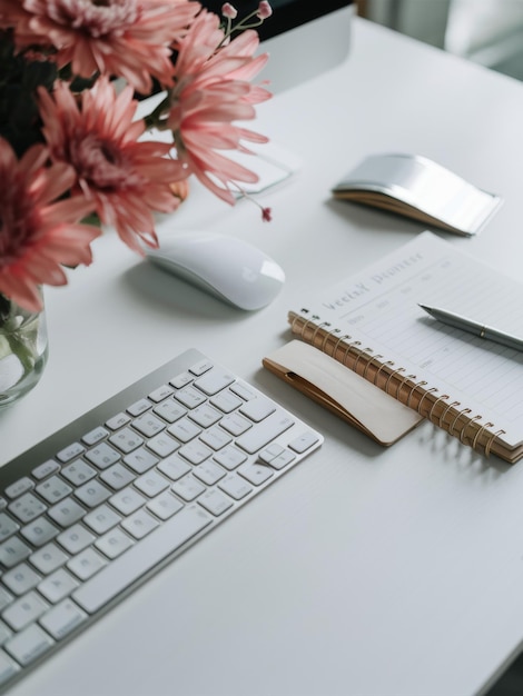
[[[45,167],[48,150],[36,145],[20,161],[0,138],[0,292],[30,310],[41,309],[38,287],[66,285],[61,265],[92,260],[100,229],[78,221],[92,211],[83,196],[63,200],[75,173],[67,165]]]

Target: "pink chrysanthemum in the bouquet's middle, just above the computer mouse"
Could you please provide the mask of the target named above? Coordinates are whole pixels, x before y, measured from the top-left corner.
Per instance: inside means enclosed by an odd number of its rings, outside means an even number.
[[[50,96],[40,88],[42,132],[51,158],[72,165],[77,188],[93,201],[102,222],[142,252],[140,239],[158,246],[151,211],[170,212],[179,205],[169,185],[188,172],[166,157],[172,145],[138,139],[142,120],[134,121],[137,102],[127,87],[119,96],[106,77],[81,95],[78,105],[69,88],[57,82]]]

